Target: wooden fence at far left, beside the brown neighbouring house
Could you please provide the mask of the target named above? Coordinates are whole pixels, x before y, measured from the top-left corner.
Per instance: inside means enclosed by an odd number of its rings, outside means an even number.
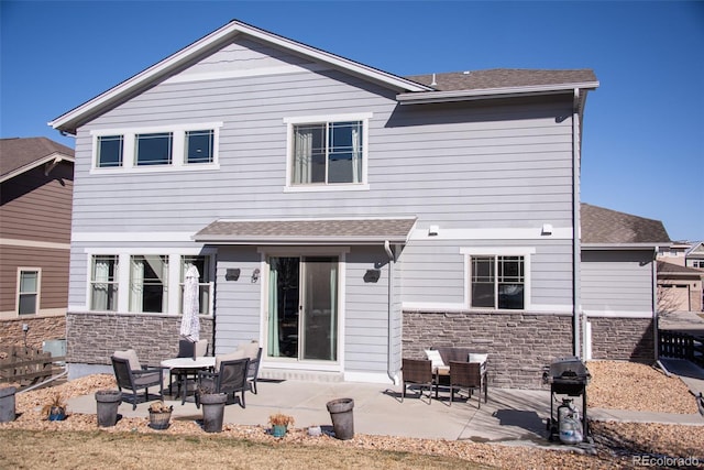
[[[52,357],[33,348],[11,346],[0,349],[0,384],[16,383],[21,387],[40,383],[64,371],[55,362],[65,358]]]

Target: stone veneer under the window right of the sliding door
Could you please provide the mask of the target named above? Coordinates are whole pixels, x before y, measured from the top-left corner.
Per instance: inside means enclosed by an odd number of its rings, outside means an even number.
[[[404,311],[403,357],[438,346],[488,352],[490,387],[542,389],[543,368],[573,354],[571,315]],[[490,391],[491,394],[491,391]]]

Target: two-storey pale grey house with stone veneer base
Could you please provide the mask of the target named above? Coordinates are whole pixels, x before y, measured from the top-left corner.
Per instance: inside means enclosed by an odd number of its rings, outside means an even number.
[[[232,21],[54,119],[76,136],[69,375],[257,339],[262,376],[391,383],[430,346],[539,386],[579,353],[590,69],[399,77]],[[609,320],[607,318],[607,320]],[[101,369],[102,368],[102,369]]]

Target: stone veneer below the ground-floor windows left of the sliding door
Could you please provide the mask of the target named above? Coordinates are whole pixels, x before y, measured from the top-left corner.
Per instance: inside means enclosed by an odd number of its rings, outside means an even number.
[[[140,362],[157,365],[178,354],[180,316],[158,314],[68,313],[66,362],[110,364],[116,350],[134,349]],[[200,339],[212,353],[213,319],[200,317]]]

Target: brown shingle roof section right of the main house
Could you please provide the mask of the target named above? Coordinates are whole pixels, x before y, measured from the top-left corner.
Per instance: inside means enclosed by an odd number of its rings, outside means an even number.
[[[582,204],[582,243],[669,243],[660,220]]]

